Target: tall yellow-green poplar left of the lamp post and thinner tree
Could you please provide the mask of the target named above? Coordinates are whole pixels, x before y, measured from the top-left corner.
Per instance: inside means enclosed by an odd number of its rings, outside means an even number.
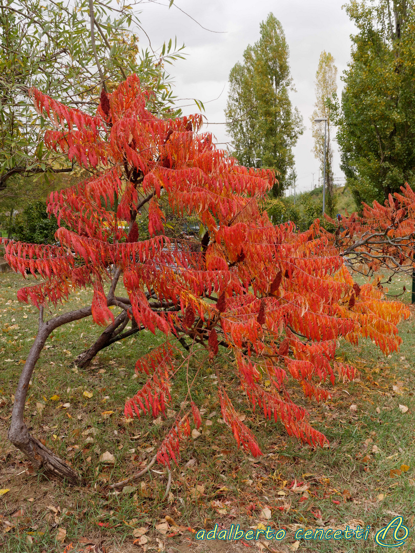
[[[273,195],[281,196],[303,125],[289,99],[292,77],[286,37],[272,13],[260,25],[260,39],[243,53],[243,64],[232,67],[229,84],[225,115],[232,153],[242,165],[254,166],[258,158],[263,168],[276,171]]]

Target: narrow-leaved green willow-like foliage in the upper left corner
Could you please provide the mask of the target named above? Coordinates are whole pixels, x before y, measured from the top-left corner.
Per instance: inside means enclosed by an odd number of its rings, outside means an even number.
[[[91,34],[89,0],[45,2],[8,0],[0,10],[0,197],[19,197],[9,189],[13,175],[71,171],[73,166],[44,147],[44,119],[27,96],[35,86],[66,105],[94,113],[104,80],[115,82],[136,73],[154,92],[149,106],[157,113],[177,113],[164,62],[183,57],[175,41],[163,46],[161,57],[139,53],[130,30],[139,23],[125,0],[116,8],[94,4]],[[96,57],[93,44],[95,44]],[[98,63],[98,65],[97,65]],[[23,185],[23,181],[17,181]],[[15,184],[15,183],[14,183]],[[15,186],[14,186],[15,188]]]

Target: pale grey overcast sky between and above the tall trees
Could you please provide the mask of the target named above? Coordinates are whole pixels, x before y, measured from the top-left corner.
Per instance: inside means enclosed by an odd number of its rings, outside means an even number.
[[[354,24],[341,8],[345,0],[143,0],[138,15],[143,29],[158,50],[164,41],[177,36],[185,44],[185,60],[167,66],[174,77],[175,93],[179,98],[197,98],[204,102],[207,130],[212,132],[221,147],[226,148],[229,137],[224,124],[229,72],[243,51],[260,36],[260,23],[272,12],[281,21],[289,46],[289,62],[297,92],[291,99],[303,116],[306,127],[294,150],[298,189],[310,190],[312,173],[318,179],[319,164],[311,152],[313,138],[309,118],[314,109],[315,72],[321,51],[329,51],[338,67],[338,92],[341,74],[350,59],[350,34]],[[188,15],[180,11],[186,12]],[[198,24],[199,23],[199,24]],[[203,26],[204,28],[202,28]],[[209,30],[206,30],[209,29]],[[148,44],[140,33],[141,45]],[[219,97],[219,98],[218,98]],[[217,98],[217,99],[215,99]],[[191,101],[183,101],[183,112],[196,113]],[[206,127],[205,127],[206,128]],[[339,168],[339,154],[334,145],[334,173],[344,177]]]

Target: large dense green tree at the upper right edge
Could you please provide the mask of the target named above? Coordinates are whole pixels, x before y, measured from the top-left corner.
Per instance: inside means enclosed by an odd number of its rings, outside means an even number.
[[[356,204],[383,202],[414,180],[415,11],[404,0],[351,0],[352,36],[336,124]]]

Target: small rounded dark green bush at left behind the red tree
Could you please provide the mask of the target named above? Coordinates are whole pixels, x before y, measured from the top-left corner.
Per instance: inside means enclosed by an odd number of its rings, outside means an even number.
[[[29,204],[15,217],[12,227],[13,238],[32,244],[53,244],[57,230],[56,217],[49,218],[46,203],[41,201]]]

